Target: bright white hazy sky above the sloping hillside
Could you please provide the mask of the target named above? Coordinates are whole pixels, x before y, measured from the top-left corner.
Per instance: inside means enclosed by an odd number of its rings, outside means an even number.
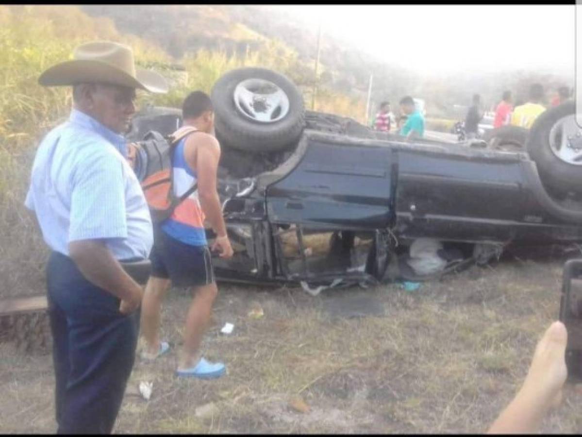
[[[278,6],[310,27],[418,72],[574,70],[573,5]],[[582,25],[581,25],[582,26]],[[314,42],[317,44],[317,42]],[[391,49],[386,47],[390,44]]]

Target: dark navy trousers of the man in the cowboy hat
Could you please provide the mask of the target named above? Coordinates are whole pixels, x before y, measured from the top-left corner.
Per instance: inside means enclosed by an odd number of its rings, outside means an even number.
[[[74,262],[53,252],[47,266],[58,434],[111,434],[139,333],[139,311],[88,282]]]

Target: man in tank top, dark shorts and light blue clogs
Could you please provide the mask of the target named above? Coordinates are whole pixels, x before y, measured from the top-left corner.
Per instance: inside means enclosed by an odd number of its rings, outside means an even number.
[[[159,337],[162,300],[171,282],[174,286],[191,287],[193,300],[186,315],[176,375],[212,379],[224,374],[225,365],[210,363],[198,352],[218,293],[204,230],[206,218],[217,234],[212,250],[218,250],[222,258],[232,257],[233,251],[217,192],[220,145],[212,135],[214,111],[208,95],[201,91],[190,93],[184,100],[182,117],[181,129],[197,130],[187,134],[174,150],[174,192],[181,196],[195,183],[197,189],[176,207],[156,235],[150,256],[152,274],[141,304],[141,355],[154,359],[169,350],[168,342]]]

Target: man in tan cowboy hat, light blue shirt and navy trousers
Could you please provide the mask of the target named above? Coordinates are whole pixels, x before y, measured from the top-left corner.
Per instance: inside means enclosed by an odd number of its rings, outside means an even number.
[[[42,86],[72,86],[68,122],[42,140],[26,206],[51,248],[47,265],[59,433],[110,433],[133,367],[141,286],[123,268],[147,260],[153,235],[122,133],[136,88],[165,93],[115,42],[77,47],[41,74]]]

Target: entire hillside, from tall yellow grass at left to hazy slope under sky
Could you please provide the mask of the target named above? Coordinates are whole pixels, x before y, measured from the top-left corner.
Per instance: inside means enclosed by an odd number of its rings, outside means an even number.
[[[290,77],[303,91],[307,108],[317,85],[317,111],[361,122],[371,73],[372,109],[381,100],[414,94],[427,101],[429,116],[449,118],[450,108],[466,102],[474,90],[488,105],[505,88],[516,90],[519,98],[533,80],[548,87],[564,83],[535,72],[420,77],[330,37],[322,38],[315,77],[317,29],[274,6],[0,6],[0,294],[33,293],[41,287],[45,246],[33,232],[23,201],[38,140],[68,115],[71,101],[67,88],[38,86],[38,75],[68,59],[76,45],[98,39],[131,45],[139,65],[171,79],[170,93],[140,94],[139,105],[178,106],[188,91],[208,92],[223,73],[242,66],[267,67]],[[173,80],[176,64],[185,70],[182,80]]]

